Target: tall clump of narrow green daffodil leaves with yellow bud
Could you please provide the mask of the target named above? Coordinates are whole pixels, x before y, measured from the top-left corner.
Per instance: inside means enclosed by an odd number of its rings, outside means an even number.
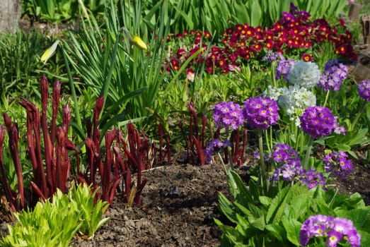
[[[71,42],[63,46],[67,67],[83,79],[83,86],[76,91],[89,88],[95,97],[104,97],[103,133],[111,126],[124,126],[129,119],[148,116],[146,107],[156,104],[164,78],[160,69],[164,44],[141,25],[140,1],[133,6],[110,1],[105,11],[108,18],[103,23],[91,16],[82,22],[79,32],[69,34]],[[156,21],[159,37],[168,32],[165,24],[162,13]],[[69,80],[74,88],[72,76]]]

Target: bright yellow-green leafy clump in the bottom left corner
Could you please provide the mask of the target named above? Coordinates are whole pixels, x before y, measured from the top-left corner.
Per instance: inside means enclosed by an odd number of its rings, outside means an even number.
[[[69,246],[78,232],[93,236],[109,220],[102,219],[107,202],[94,203],[95,193],[88,186],[76,186],[68,195],[59,189],[52,200],[39,202],[33,210],[17,212],[17,222],[8,225],[1,246]]]

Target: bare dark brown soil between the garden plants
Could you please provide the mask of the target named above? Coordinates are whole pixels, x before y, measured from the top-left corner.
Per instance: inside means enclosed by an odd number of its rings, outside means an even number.
[[[248,176],[246,169],[237,171]],[[120,196],[111,217],[91,240],[73,246],[219,246],[220,229],[213,218],[226,220],[217,209],[217,195],[228,194],[226,175],[217,165],[171,165],[144,172],[149,179],[140,207],[127,208]],[[359,192],[370,205],[370,169],[355,166],[345,181],[334,181],[340,193]]]

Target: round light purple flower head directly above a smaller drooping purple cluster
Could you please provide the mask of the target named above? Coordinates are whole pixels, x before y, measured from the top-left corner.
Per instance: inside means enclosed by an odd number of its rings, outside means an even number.
[[[217,127],[237,129],[244,122],[243,109],[234,102],[221,102],[214,107],[213,119]]]

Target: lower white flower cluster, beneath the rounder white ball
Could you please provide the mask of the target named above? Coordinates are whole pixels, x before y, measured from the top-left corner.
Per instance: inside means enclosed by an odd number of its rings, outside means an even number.
[[[295,121],[296,126],[299,126],[299,116],[307,107],[316,106],[316,96],[310,90],[301,88],[299,85],[293,85],[284,88],[272,88],[270,85],[263,93],[271,99],[277,100],[279,107],[284,109],[291,117],[291,121]]]

